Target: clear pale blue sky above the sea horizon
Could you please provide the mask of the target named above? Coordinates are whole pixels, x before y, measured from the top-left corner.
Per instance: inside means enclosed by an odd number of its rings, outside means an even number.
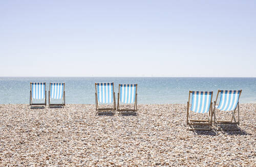
[[[0,76],[256,77],[256,1],[0,1]]]

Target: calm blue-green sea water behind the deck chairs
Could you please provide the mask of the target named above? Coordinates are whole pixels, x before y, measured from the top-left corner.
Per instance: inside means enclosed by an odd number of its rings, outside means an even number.
[[[256,102],[256,78],[217,77],[0,77],[1,104],[29,104],[30,82],[65,82],[66,103],[95,104],[95,82],[138,84],[139,104],[185,104],[188,91],[242,90],[241,103]],[[48,95],[47,95],[48,97]],[[48,99],[47,99],[48,101]]]

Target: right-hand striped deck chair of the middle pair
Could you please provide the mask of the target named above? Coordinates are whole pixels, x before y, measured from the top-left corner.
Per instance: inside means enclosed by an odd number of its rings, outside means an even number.
[[[133,109],[120,109],[121,103],[134,104],[134,107]],[[117,111],[119,114],[121,114],[122,111],[137,112],[137,84],[119,84]]]

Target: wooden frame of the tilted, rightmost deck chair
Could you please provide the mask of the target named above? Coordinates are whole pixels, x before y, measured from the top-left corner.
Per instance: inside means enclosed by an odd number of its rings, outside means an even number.
[[[231,121],[218,121],[217,120],[217,117],[216,117],[216,110],[217,110],[216,103],[217,103],[218,95],[219,95],[220,92],[221,92],[221,90],[218,90],[216,100],[214,101],[214,123],[215,123],[215,125],[216,126],[218,124],[240,125],[239,99],[240,99],[240,95],[242,93],[242,90],[240,90],[240,93],[239,93],[237,107],[234,108],[234,110],[231,111],[231,115],[232,115],[231,116]],[[236,110],[237,110],[237,113],[238,113],[238,121],[236,120],[236,117],[234,116],[236,114]],[[223,112],[228,112],[228,111],[223,111]],[[233,129],[232,128],[217,128],[217,130],[239,130],[239,129],[238,128],[233,128]]]

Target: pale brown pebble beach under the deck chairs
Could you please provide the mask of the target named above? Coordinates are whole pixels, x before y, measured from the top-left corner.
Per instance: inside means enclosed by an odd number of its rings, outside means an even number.
[[[0,166],[256,166],[255,103],[240,104],[240,122],[190,131],[185,104],[139,104],[130,115],[1,104]]]

